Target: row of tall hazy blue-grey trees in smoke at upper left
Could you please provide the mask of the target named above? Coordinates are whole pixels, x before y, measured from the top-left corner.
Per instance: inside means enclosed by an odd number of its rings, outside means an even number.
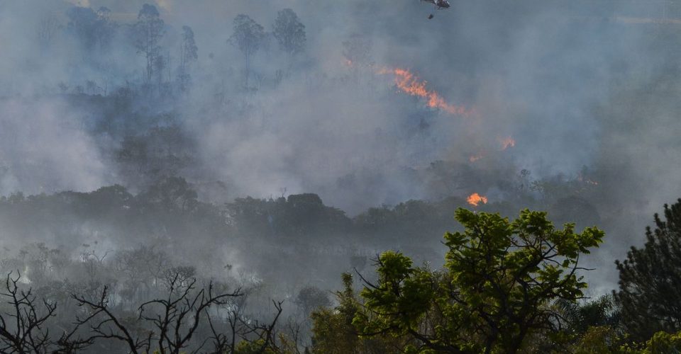
[[[195,84],[194,75],[205,76],[196,72],[199,47],[189,25],[173,28],[153,4],[143,4],[136,18],[128,15],[112,13],[106,6],[70,6],[63,12],[46,12],[39,19],[35,32],[42,55],[63,55],[60,49],[69,47],[76,54],[72,57],[80,59],[68,64],[69,71],[77,72],[79,79],[60,81],[56,88],[59,92],[107,96],[125,94],[135,87],[155,96],[180,96]],[[249,90],[257,89],[264,80],[253,70],[258,52],[276,50],[287,59],[277,71],[276,81],[306,47],[305,25],[290,8],[278,11],[268,28],[238,14],[232,30],[224,44],[243,55],[240,83]],[[214,54],[207,56],[212,59]],[[135,57],[139,60],[131,60]],[[135,67],[136,62],[141,67]],[[86,79],[80,81],[83,77]],[[255,80],[249,83],[250,78]]]

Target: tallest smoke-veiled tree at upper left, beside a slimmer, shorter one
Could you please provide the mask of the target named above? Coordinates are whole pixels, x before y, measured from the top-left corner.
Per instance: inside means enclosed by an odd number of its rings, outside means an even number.
[[[156,6],[144,4],[133,25],[133,45],[146,59],[145,81],[150,83],[162,62],[159,42],[165,34],[165,23],[160,18]]]

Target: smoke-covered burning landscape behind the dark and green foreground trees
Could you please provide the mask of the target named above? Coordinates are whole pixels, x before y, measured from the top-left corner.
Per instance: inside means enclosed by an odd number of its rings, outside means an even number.
[[[342,272],[441,266],[468,207],[598,225],[608,292],[679,196],[681,4],[452,3],[0,0],[7,290],[73,350],[194,296],[216,322],[168,348],[304,348]]]

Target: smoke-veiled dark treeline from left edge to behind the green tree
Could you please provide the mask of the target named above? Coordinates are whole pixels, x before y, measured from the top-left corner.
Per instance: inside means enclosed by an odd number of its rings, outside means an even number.
[[[279,278],[282,274],[278,272],[291,270],[268,265],[280,258],[275,257],[280,252],[299,258],[301,268],[316,261],[326,263],[325,258],[349,267],[350,258],[366,261],[394,246],[432,256],[438,241],[431,235],[445,232],[451,224],[450,215],[465,204],[463,198],[410,200],[394,207],[370,208],[355,217],[324,205],[319,195],[312,193],[237,198],[215,205],[201,202],[184,178],[169,177],[136,195],[121,185],[90,193],[14,193],[0,197],[0,220],[4,232],[12,235],[4,243],[9,253],[29,242],[47,243],[67,254],[150,244],[177,254],[179,259],[201,253],[204,260],[226,258],[223,249],[248,250],[253,256],[243,259],[244,268]],[[94,242],[104,241],[106,244],[95,247]],[[220,246],[204,250],[204,244]]]

